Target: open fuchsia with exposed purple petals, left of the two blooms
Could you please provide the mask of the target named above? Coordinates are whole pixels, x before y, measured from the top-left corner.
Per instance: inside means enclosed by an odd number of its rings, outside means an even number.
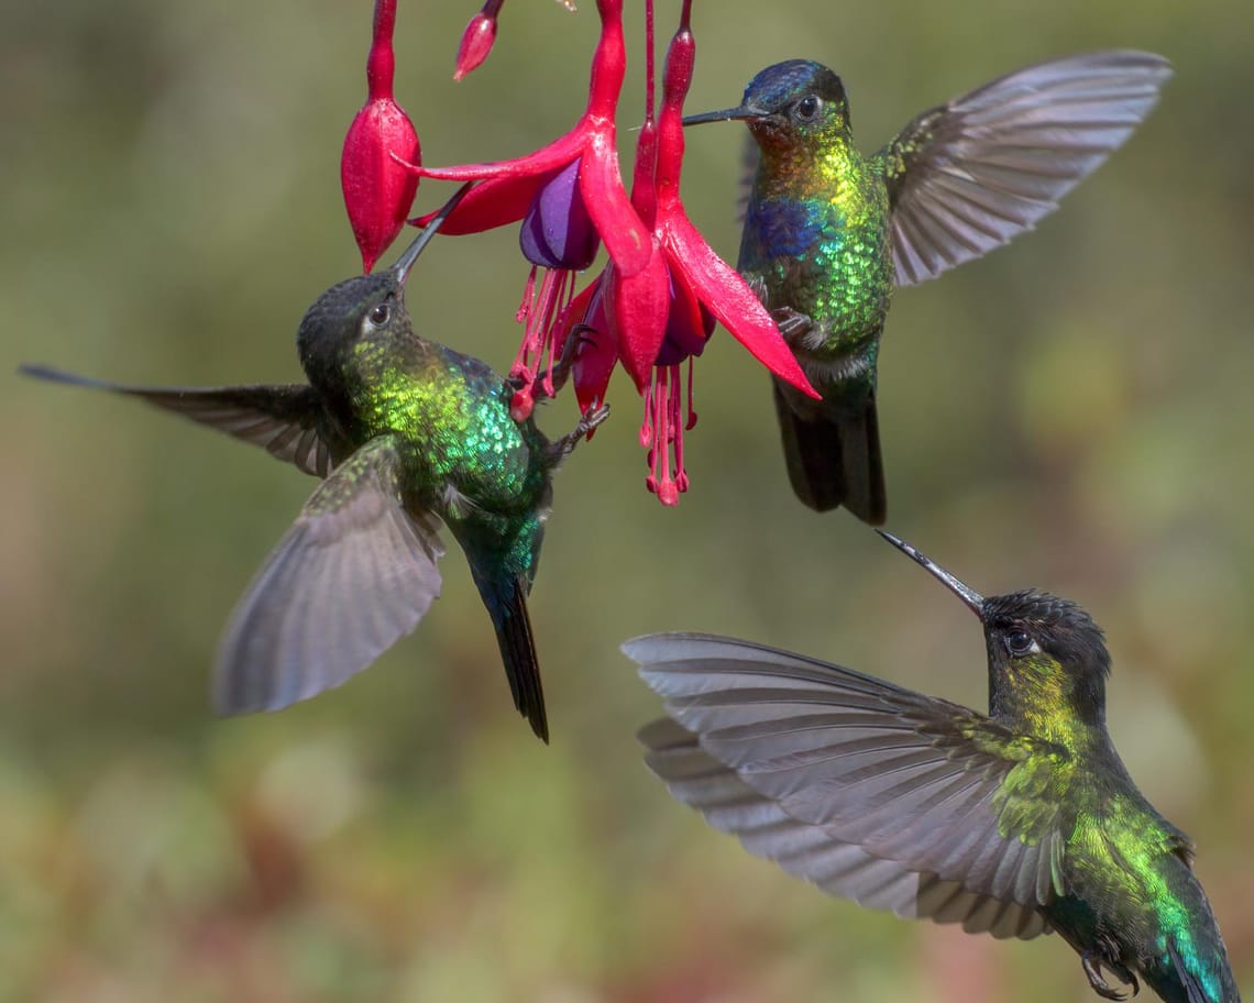
[[[443,234],[477,233],[524,221],[522,247],[532,271],[518,311],[524,323],[523,345],[510,369],[510,377],[520,385],[512,401],[518,420],[532,411],[537,377],[543,381],[540,392],[556,392],[553,367],[561,342],[554,332],[561,327],[558,320],[569,312],[574,273],[596,257],[597,234],[624,275],[645,268],[652,252],[648,229],[632,208],[618,169],[616,115],[627,69],[622,0],[597,0],[597,10],[601,38],[592,58],[588,105],[571,132],[513,160],[450,168],[410,165],[421,177],[480,182],[440,227]],[[494,11],[485,8],[480,14]],[[534,238],[545,232],[552,237]],[[584,253],[589,247],[591,253]]]

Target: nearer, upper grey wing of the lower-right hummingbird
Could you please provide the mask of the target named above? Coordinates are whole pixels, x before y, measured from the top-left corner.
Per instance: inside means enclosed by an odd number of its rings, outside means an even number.
[[[967,707],[744,641],[656,634],[623,651],[701,751],[834,844],[1026,908],[1061,890],[1073,772],[1061,747]]]

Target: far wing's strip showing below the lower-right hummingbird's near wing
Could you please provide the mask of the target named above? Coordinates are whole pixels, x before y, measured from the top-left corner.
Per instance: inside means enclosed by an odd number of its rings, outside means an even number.
[[[1030,940],[1050,932],[1031,906],[979,895],[961,881],[942,881],[935,874],[873,856],[856,844],[834,839],[821,825],[794,819],[668,717],[646,725],[637,737],[648,748],[648,767],[676,800],[697,809],[715,829],[739,836],[751,854],[774,860],[829,895],[888,909],[904,919],[961,923],[967,933],[991,933],[998,939]]]

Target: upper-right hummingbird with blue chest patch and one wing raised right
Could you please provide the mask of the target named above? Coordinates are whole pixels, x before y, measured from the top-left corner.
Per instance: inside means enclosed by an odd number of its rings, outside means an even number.
[[[1042,63],[924,112],[872,157],[854,145],[840,78],[808,60],[767,66],[737,107],[683,120],[740,119],[756,144],[737,268],[821,395],[774,380],[803,503],[884,522],[875,371],[893,290],[1032,229],[1170,75],[1139,51]]]

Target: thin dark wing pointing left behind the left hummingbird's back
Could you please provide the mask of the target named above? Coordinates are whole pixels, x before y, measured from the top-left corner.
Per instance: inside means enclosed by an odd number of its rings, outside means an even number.
[[[19,372],[39,380],[109,390],[258,445],[306,474],[325,478],[351,451],[331,426],[317,391],[305,384],[253,386],[129,386],[93,380],[50,366],[24,365]]]

